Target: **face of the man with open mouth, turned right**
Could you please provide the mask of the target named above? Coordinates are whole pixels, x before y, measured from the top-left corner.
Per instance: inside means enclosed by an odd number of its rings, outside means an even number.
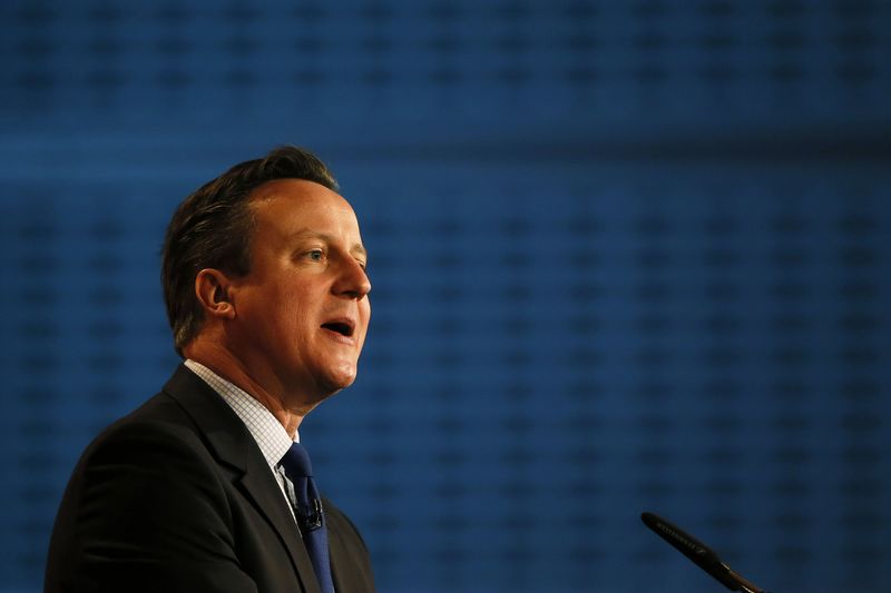
[[[359,223],[341,196],[298,179],[264,184],[251,205],[251,271],[233,280],[229,346],[286,405],[312,406],[353,383],[365,342]]]

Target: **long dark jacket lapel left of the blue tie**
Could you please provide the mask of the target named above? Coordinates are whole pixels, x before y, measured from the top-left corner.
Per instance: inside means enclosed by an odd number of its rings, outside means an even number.
[[[180,365],[164,386],[204,434],[214,456],[236,471],[238,490],[266,518],[287,548],[306,593],[320,593],[306,546],[278,484],[256,442],[226,402],[209,385]]]

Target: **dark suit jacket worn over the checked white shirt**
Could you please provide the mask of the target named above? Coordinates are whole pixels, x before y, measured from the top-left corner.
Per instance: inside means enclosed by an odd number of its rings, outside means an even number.
[[[334,586],[373,591],[362,537],[323,501]],[[251,433],[180,366],[87,447],[56,518],[45,591],[319,593],[319,584]]]

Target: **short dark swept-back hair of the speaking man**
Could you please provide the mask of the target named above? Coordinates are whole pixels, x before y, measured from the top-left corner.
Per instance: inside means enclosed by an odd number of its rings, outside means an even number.
[[[180,356],[204,323],[195,296],[198,271],[216,268],[235,276],[251,271],[255,223],[251,195],[267,181],[290,178],[337,189],[337,181],[319,157],[285,146],[234,166],[188,196],[174,213],[164,238],[161,286],[174,346]]]

